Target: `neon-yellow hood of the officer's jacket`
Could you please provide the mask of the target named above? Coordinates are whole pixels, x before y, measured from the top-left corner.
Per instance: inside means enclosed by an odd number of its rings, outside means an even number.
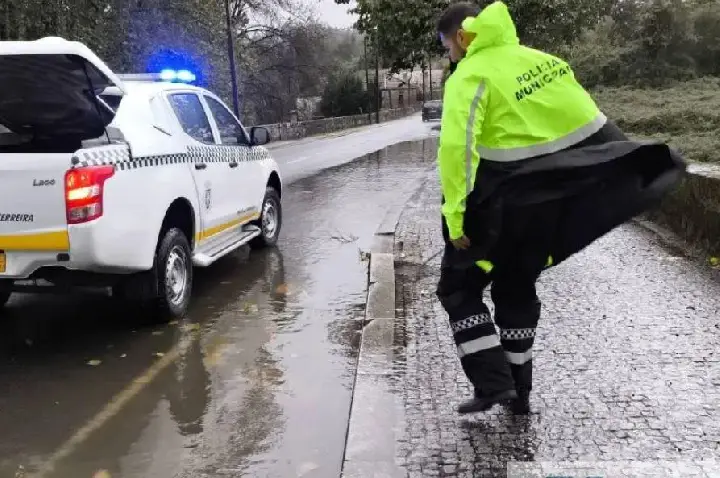
[[[520,44],[507,5],[500,1],[485,7],[478,16],[466,18],[462,28],[476,35],[468,47],[468,55],[484,48]]]

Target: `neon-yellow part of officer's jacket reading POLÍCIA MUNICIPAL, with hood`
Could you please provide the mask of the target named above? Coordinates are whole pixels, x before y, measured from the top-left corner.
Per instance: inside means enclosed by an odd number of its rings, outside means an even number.
[[[480,160],[555,153],[607,121],[565,61],[520,45],[504,3],[466,19],[463,29],[476,36],[445,84],[438,152],[451,239],[464,234],[466,198]]]

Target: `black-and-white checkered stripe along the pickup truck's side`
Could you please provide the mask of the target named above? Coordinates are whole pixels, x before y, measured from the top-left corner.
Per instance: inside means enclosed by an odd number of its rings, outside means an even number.
[[[125,146],[103,146],[79,151],[73,157],[76,168],[114,165],[120,171],[189,163],[232,163],[262,161],[270,155],[265,148],[242,146],[190,146],[187,153],[132,157]]]

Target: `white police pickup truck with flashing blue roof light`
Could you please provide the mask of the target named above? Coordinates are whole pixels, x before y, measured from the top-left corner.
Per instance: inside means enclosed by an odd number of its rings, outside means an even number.
[[[168,73],[116,75],[61,38],[0,42],[0,307],[100,287],[177,317],[193,266],[276,244],[268,131]]]

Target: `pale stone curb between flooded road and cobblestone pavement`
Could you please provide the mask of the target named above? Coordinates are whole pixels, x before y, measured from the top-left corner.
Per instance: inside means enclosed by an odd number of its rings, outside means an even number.
[[[370,252],[365,326],[350,408],[342,478],[400,478],[395,464],[400,397],[393,391],[395,343],[395,229],[405,203],[385,215]]]

